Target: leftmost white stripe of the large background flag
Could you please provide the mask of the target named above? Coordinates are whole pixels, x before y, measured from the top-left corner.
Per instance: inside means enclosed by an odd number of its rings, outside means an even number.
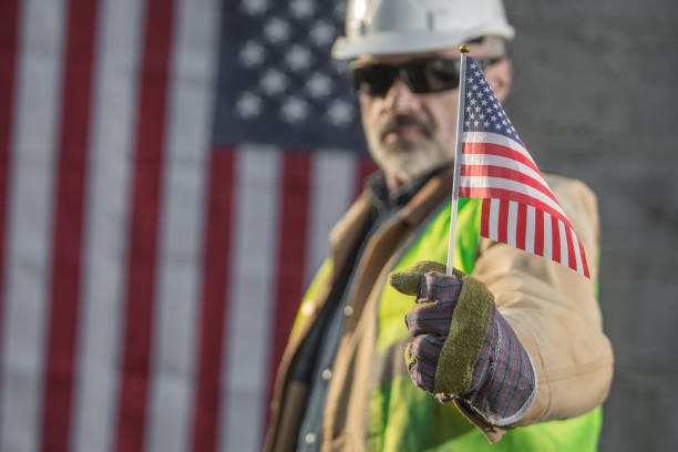
[[[37,451],[41,444],[55,179],[51,162],[56,161],[64,18],[59,2],[20,4],[2,256],[0,450]]]

